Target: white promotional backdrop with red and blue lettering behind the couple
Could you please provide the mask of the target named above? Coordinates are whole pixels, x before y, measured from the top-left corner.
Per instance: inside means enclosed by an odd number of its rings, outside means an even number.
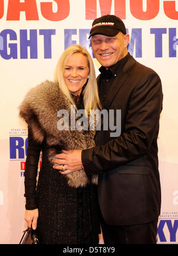
[[[164,100],[158,157],[162,203],[157,243],[178,243],[177,0],[0,0],[0,243],[19,243],[27,227],[24,169],[28,138],[18,107],[30,88],[53,80],[58,59],[69,45],[87,48],[99,74],[100,64],[88,36],[93,20],[106,14],[122,18],[130,35],[128,51],[161,78]]]

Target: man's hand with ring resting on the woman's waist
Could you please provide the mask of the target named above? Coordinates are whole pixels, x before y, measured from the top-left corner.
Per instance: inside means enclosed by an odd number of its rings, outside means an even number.
[[[55,155],[55,158],[58,158],[58,160],[53,159],[53,163],[60,164],[60,166],[54,165],[54,169],[59,170],[61,174],[68,174],[82,169],[81,150],[62,150],[62,152],[65,154]]]

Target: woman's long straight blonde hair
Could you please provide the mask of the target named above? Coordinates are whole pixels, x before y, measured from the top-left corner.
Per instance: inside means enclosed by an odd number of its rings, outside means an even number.
[[[69,99],[72,105],[75,105],[72,99],[71,93],[69,92],[69,89],[66,86],[66,83],[63,77],[63,71],[68,61],[68,58],[75,53],[83,54],[85,57],[87,57],[87,60],[88,60],[88,67],[89,67],[90,73],[88,77],[88,83],[85,86],[85,89],[83,90],[83,95],[84,95],[84,108],[89,114],[90,110],[96,110],[96,108],[101,108],[100,100],[98,97],[95,68],[89,52],[81,45],[71,45],[68,48],[66,48],[65,51],[62,53],[61,57],[59,58],[59,61],[56,65],[54,78],[55,78],[55,82],[59,83],[59,88],[62,90],[63,94]]]

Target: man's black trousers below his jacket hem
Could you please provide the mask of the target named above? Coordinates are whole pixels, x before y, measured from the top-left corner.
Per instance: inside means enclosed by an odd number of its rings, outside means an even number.
[[[112,226],[101,217],[101,228],[105,244],[155,244],[157,239],[157,223],[131,226]]]

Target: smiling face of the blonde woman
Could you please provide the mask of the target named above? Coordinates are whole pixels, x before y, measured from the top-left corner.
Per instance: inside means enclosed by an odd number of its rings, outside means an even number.
[[[72,94],[80,95],[82,87],[87,82],[89,72],[87,57],[80,52],[69,57],[63,71],[63,77]]]

